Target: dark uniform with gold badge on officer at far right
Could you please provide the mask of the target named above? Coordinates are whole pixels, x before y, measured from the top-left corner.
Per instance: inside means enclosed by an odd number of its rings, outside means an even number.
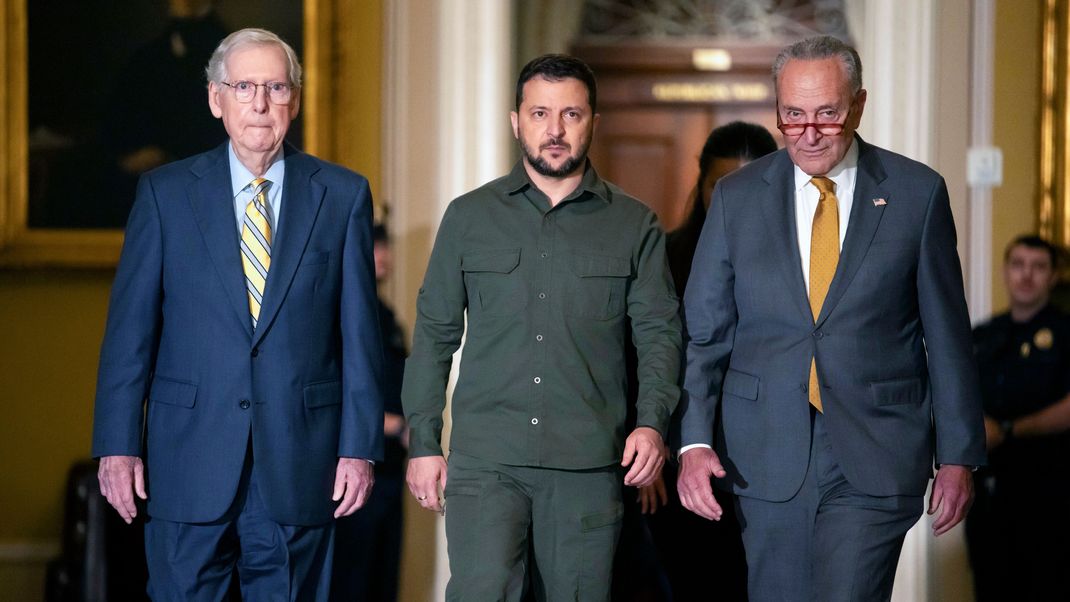
[[[1000,314],[974,345],[984,414],[1005,437],[975,473],[966,521],[977,600],[1070,600],[1070,434],[1017,438],[1011,426],[1070,392],[1070,315]]]

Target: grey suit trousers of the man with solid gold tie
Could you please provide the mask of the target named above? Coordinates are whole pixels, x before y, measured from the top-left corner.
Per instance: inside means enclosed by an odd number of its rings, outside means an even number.
[[[782,503],[737,498],[750,600],[888,600],[922,497],[875,497],[852,487],[821,414],[812,423],[810,466],[798,493]]]

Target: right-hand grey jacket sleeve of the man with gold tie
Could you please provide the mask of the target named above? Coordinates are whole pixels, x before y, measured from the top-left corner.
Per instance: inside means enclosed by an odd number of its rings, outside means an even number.
[[[933,188],[921,233],[918,311],[932,389],[936,463],[984,464],[980,385],[947,186]]]

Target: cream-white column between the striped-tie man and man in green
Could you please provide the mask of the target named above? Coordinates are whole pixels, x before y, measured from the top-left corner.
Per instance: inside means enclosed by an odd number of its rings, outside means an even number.
[[[509,167],[513,3],[387,0],[385,9],[383,188],[399,275],[391,292],[411,326],[449,201]],[[428,530],[419,539],[434,539],[434,576],[419,595],[442,600],[448,564],[441,518]]]

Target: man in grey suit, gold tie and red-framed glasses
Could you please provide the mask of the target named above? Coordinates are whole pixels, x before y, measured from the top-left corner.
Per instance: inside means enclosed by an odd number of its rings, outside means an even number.
[[[984,462],[947,188],[855,135],[850,46],[773,76],[785,149],[718,183],[685,294],[677,487],[710,520],[712,476],[739,496],[751,600],[887,600],[934,462],[936,535]]]

